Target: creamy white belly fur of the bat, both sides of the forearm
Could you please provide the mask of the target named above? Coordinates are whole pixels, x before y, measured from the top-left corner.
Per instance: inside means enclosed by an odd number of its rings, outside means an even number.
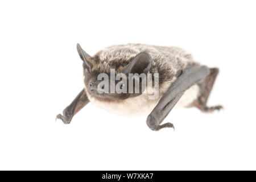
[[[176,106],[188,106],[199,96],[200,88],[193,85],[189,88],[177,102]],[[138,97],[127,98],[120,102],[105,102],[96,100],[88,96],[93,105],[100,107],[110,113],[126,116],[138,116],[150,114],[154,107],[158,104],[160,97],[156,100],[149,100],[147,94],[141,94]]]

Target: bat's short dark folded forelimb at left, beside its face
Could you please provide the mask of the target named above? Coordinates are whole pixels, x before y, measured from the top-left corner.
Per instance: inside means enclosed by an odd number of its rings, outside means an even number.
[[[73,118],[73,116],[82,109],[86,104],[88,104],[89,100],[86,96],[86,92],[84,89],[76,96],[75,100],[68,105],[63,110],[63,115],[58,114],[56,119],[61,119],[63,123],[69,124]]]

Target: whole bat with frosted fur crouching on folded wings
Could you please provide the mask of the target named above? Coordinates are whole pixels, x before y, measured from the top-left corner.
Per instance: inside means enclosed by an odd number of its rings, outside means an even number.
[[[77,51],[85,87],[57,115],[65,124],[89,102],[116,114],[148,115],[146,123],[153,131],[175,129],[170,122],[162,124],[175,105],[207,113],[222,109],[207,106],[219,69],[197,63],[184,49],[123,44],[89,56],[77,44]]]

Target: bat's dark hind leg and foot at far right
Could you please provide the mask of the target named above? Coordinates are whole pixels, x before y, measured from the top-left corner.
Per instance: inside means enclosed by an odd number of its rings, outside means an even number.
[[[210,74],[198,83],[198,85],[200,86],[201,95],[195,102],[193,102],[192,106],[197,107],[203,112],[212,112],[214,110],[220,110],[223,108],[221,105],[210,107],[207,106],[207,101],[210,92],[212,91],[214,81],[216,80],[216,77],[218,75],[218,71],[218,68],[210,68]]]

